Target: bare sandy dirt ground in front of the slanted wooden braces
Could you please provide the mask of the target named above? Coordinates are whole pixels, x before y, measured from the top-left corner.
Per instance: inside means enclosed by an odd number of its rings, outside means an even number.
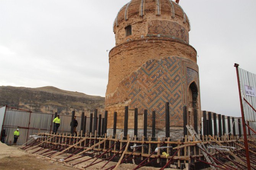
[[[85,157],[87,159],[89,157]],[[61,157],[58,157],[61,159]],[[91,161],[87,161],[89,164]],[[83,164],[85,166],[86,164]],[[105,164],[105,161],[100,162],[88,170],[99,170],[101,166]],[[105,168],[109,168],[116,165],[116,162],[110,162]],[[132,170],[136,165],[133,164],[121,164],[118,170]],[[104,169],[105,169],[104,168]],[[0,142],[0,170],[75,170],[76,168],[64,166],[60,162],[54,160],[45,159],[36,154],[29,154],[18,150],[18,146],[7,146]],[[153,167],[141,167],[139,170],[159,170],[159,168]],[[176,170],[167,168],[165,170]]]

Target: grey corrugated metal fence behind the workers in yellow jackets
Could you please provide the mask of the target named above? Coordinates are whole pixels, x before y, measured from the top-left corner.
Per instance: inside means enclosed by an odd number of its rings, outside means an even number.
[[[54,114],[20,111],[8,109],[8,107],[2,107],[0,108],[0,121],[1,117],[4,117],[1,128],[3,127],[3,129],[6,130],[6,144],[13,144],[13,133],[17,128],[19,128],[20,132],[17,144],[23,144],[28,141],[30,139],[29,135],[37,134],[39,129],[40,132],[53,133],[52,121],[54,119]],[[60,119],[61,124],[57,133],[70,133],[71,115],[60,115]],[[76,116],[76,120],[78,121],[76,131],[81,132],[81,116]],[[97,122],[99,122],[99,120]],[[87,117],[86,132],[89,132],[89,124],[90,117]]]

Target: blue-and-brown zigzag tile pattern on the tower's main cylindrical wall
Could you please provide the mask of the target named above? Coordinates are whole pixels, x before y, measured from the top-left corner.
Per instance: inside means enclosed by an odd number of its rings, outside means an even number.
[[[165,102],[169,102],[170,126],[181,127],[187,83],[193,80],[199,87],[198,72],[187,70],[187,66],[198,69],[196,63],[180,57],[148,60],[120,82],[113,95],[106,97],[105,104],[128,103],[130,109],[138,108],[139,114],[147,109],[149,126],[152,111],[156,111],[156,128],[164,128]]]

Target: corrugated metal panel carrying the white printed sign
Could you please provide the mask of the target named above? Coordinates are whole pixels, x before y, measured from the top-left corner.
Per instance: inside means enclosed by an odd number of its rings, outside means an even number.
[[[241,94],[242,98],[245,98],[255,109],[256,108],[256,97],[248,96],[245,94],[245,85],[254,87],[256,89],[256,74],[245,71],[241,68],[238,68],[240,85],[241,85]],[[243,100],[243,109],[245,113],[245,121],[256,122],[256,112]]]

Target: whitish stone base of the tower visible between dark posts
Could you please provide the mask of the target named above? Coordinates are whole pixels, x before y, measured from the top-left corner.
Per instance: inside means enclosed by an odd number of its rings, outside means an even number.
[[[117,138],[120,138],[121,134],[123,135],[123,129],[117,129]],[[113,135],[113,129],[107,129],[107,136]],[[134,129],[128,129],[128,135],[134,136]],[[138,129],[138,138],[143,136],[143,129]],[[152,136],[152,129],[147,129],[147,136]],[[162,138],[165,137],[165,128],[163,129],[156,129],[156,137]],[[183,127],[171,127],[170,128],[170,139],[178,140],[182,139],[183,137]]]

